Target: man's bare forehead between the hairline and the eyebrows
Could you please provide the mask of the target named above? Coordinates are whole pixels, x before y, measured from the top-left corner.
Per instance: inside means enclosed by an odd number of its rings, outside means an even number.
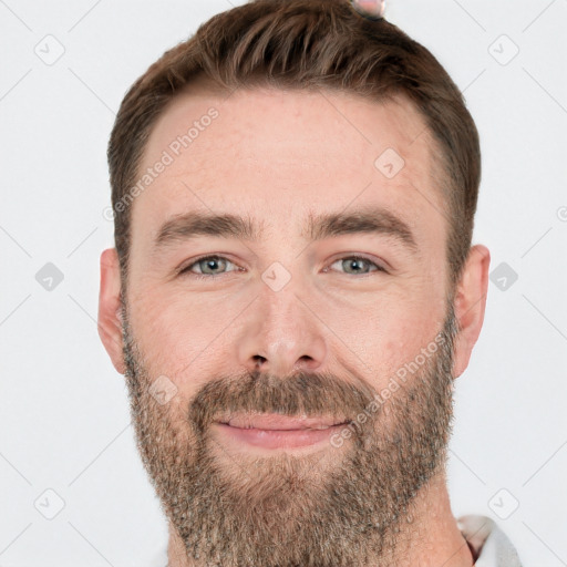
[[[196,209],[257,216],[268,233],[272,219],[290,235],[309,213],[350,204],[383,204],[409,224],[430,215],[439,225],[432,147],[404,99],[278,89],[178,95],[144,151],[132,241],[150,245],[165,220]]]

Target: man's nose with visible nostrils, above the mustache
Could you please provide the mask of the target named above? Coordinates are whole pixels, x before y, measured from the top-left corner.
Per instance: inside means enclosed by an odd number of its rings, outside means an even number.
[[[317,306],[288,286],[279,291],[266,286],[250,306],[238,339],[239,362],[249,371],[286,377],[321,371],[326,364],[326,327]]]

